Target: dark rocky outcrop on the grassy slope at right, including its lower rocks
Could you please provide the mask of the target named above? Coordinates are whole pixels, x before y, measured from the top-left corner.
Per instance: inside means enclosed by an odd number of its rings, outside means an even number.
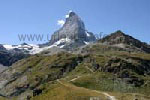
[[[114,73],[118,78],[125,79],[127,83],[140,87],[144,84],[144,80],[138,75],[149,75],[150,60],[130,58],[130,61],[134,62],[135,59],[139,64],[135,65],[129,62],[129,59],[111,58],[102,68],[102,71]]]

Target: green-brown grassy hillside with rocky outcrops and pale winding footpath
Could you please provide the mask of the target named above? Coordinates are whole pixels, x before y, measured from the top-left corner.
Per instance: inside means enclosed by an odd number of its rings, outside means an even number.
[[[18,61],[1,73],[0,94],[13,100],[150,99],[149,54],[101,44],[80,52],[38,54]]]

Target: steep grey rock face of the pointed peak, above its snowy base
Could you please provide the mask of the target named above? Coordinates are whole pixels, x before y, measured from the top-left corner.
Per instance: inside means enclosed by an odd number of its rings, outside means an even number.
[[[60,39],[68,38],[75,42],[75,40],[91,42],[95,41],[96,38],[93,33],[85,30],[83,21],[74,12],[69,13],[69,17],[66,18],[66,22],[61,29],[56,31],[50,40],[50,44],[54,44]]]

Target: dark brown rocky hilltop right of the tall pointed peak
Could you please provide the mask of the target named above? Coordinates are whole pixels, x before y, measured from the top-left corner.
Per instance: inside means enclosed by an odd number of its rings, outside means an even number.
[[[109,36],[101,39],[100,42],[108,45],[117,45],[117,44],[124,44],[130,47],[135,47],[140,51],[150,53],[150,46],[140,40],[133,38],[132,36],[126,35],[123,32],[116,31]]]

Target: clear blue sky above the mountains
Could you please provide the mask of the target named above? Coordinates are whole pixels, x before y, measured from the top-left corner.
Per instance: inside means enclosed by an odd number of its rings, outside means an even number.
[[[52,34],[69,10],[95,34],[122,30],[150,42],[150,0],[0,0],[0,44],[22,43],[18,34]]]

